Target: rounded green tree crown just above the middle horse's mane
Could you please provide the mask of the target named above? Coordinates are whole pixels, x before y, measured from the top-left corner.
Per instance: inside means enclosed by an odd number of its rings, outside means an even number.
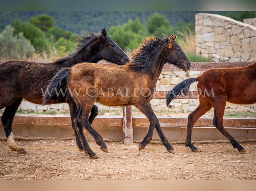
[[[159,28],[169,26],[168,20],[161,13],[155,12],[154,15],[150,16],[146,23],[148,31],[153,34],[155,31],[158,32]]]

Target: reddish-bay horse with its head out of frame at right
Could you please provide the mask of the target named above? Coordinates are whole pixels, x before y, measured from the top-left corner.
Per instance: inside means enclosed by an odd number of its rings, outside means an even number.
[[[198,82],[199,105],[188,115],[185,146],[189,146],[193,152],[198,152],[191,143],[192,128],[199,117],[213,107],[213,125],[230,141],[234,148],[238,148],[239,152],[246,152],[225,130],[223,115],[226,101],[234,104],[256,103],[256,62],[245,67],[213,68],[196,78],[186,79],[168,92],[167,106],[177,96],[186,95],[193,82]]]

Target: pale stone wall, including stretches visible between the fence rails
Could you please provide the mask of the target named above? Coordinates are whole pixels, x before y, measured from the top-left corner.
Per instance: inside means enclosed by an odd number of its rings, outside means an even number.
[[[235,21],[229,17],[214,14],[199,13],[195,16],[196,53],[205,57],[212,57],[217,62],[252,62],[256,61],[256,18],[245,19],[246,23]],[[252,26],[254,25],[254,26]],[[171,90],[183,80],[196,77],[202,72],[162,72],[157,90]],[[197,83],[193,83],[190,90],[196,90]],[[106,107],[97,104],[100,111],[119,110],[121,108]],[[175,99],[170,107],[166,107],[165,99],[153,99],[151,105],[154,111],[191,112],[198,106],[198,99]],[[55,110],[68,113],[67,103],[53,105],[35,105],[23,101],[20,108],[24,111],[33,110],[44,112]],[[236,105],[227,102],[225,112],[256,112],[256,104]]]

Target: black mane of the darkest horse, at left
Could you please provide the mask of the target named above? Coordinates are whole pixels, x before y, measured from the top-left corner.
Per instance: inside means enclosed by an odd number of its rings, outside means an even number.
[[[95,39],[98,39],[99,37],[101,37],[101,34],[96,35],[95,33],[90,32],[90,31],[85,33],[85,36],[78,35],[78,38],[76,38],[76,41],[78,43],[77,44],[77,50],[74,53],[69,54],[67,57],[60,58],[60,59],[54,61],[54,63],[60,63],[60,62],[64,62],[64,61],[69,60],[70,58],[74,57],[80,50],[84,49],[92,41],[94,41]],[[107,35],[107,37],[108,37],[108,35]],[[105,37],[105,38],[107,38],[107,37]]]

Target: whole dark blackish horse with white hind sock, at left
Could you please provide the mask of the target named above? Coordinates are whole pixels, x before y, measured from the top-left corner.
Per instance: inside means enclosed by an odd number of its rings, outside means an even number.
[[[19,154],[26,154],[25,149],[15,143],[12,133],[13,118],[21,101],[25,99],[35,104],[42,104],[43,92],[49,84],[49,80],[60,69],[72,67],[81,62],[97,63],[101,59],[119,65],[124,65],[129,61],[128,56],[107,35],[105,29],[102,29],[98,35],[92,32],[86,33],[85,36],[79,35],[77,42],[77,50],[74,53],[52,63],[15,60],[0,65],[0,109],[6,107],[1,121],[11,150],[17,151]],[[64,102],[69,104],[72,128],[75,132],[77,146],[81,150],[82,145],[73,123],[76,105],[69,93],[53,97],[48,104]],[[94,105],[90,115],[90,123],[92,123],[97,112],[97,106]]]

